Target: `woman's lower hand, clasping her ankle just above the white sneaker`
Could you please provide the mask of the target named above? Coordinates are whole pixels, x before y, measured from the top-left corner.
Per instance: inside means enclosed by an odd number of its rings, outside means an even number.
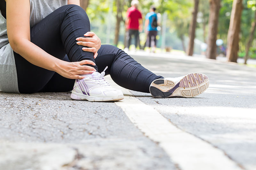
[[[65,78],[83,79],[84,77],[80,75],[92,74],[96,71],[93,67],[84,64],[95,65],[95,63],[90,60],[83,60],[80,62],[66,62],[60,60],[60,63],[57,64],[55,72],[59,73]]]

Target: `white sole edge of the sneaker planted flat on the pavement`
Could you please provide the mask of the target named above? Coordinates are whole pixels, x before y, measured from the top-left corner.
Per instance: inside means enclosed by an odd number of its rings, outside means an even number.
[[[112,98],[100,98],[100,97],[92,97],[92,96],[87,96],[84,94],[72,92],[70,95],[70,98],[73,100],[88,100],[88,101],[119,101],[119,100],[123,100],[124,96],[119,95],[117,97],[112,97]]]

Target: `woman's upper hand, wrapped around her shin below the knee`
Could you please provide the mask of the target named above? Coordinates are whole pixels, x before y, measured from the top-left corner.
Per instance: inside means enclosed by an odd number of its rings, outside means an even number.
[[[89,52],[93,52],[93,57],[96,58],[98,55],[98,50],[100,49],[101,46],[101,41],[100,38],[93,32],[87,32],[84,34],[84,37],[79,37],[77,38],[77,44],[78,45],[82,45],[85,46],[84,48],[82,48],[84,51],[89,51]],[[89,47],[89,48],[86,48]]]

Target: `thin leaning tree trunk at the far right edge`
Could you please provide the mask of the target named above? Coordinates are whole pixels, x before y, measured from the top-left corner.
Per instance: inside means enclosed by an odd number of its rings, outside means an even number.
[[[249,39],[245,48],[245,56],[244,56],[244,64],[247,63],[247,59],[248,59],[248,53],[249,53],[249,49],[252,46],[252,41],[254,39],[254,32],[255,32],[255,28],[256,28],[256,1],[247,1],[247,6],[248,8],[252,8],[252,10],[254,11],[254,19],[252,21],[252,26],[250,29],[250,35],[249,35]]]

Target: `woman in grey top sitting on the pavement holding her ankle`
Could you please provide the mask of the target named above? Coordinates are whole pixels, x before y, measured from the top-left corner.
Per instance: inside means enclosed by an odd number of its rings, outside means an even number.
[[[200,73],[156,76],[121,49],[101,45],[90,32],[79,0],[6,0],[6,4],[0,0],[0,4],[3,92],[72,90],[75,100],[122,100],[123,93],[105,81],[105,74],[124,88],[150,92],[156,98],[194,97],[209,85]]]

